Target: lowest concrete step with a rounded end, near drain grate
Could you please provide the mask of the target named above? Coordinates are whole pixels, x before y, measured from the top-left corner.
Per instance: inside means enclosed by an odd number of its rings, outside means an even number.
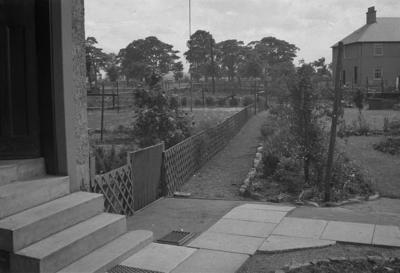
[[[126,258],[140,251],[153,241],[153,233],[147,230],[128,232],[111,243],[96,249],[89,255],[61,269],[58,273],[106,272]]]

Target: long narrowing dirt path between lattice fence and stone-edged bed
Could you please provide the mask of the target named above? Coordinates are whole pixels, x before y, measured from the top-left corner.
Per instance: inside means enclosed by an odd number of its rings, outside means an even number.
[[[253,116],[228,143],[182,187],[192,198],[244,200],[239,188],[249,172],[268,112]]]

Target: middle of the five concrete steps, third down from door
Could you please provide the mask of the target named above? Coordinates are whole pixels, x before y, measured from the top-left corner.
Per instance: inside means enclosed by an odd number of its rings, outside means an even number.
[[[0,220],[0,250],[17,252],[103,211],[101,194],[76,192]]]

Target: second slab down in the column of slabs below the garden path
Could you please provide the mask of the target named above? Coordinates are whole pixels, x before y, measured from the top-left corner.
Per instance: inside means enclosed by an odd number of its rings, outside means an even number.
[[[266,238],[272,233],[275,227],[276,224],[272,223],[221,219],[208,231]]]

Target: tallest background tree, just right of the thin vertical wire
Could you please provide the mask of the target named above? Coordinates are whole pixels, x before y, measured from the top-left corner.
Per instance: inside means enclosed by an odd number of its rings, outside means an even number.
[[[215,44],[212,35],[205,30],[197,30],[188,41],[189,50],[184,53],[186,60],[190,63],[190,73],[195,78],[203,76],[208,80],[208,76],[215,74],[213,63],[212,47]]]

